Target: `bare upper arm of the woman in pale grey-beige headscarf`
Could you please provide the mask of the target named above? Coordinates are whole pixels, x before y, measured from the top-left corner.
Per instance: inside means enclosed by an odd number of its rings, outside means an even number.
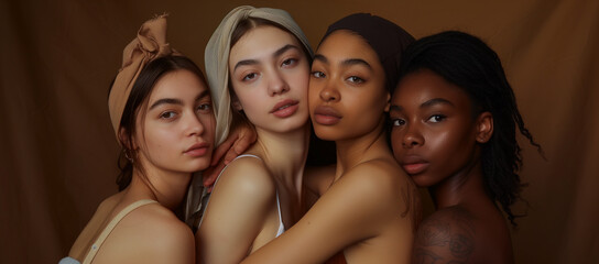
[[[274,205],[275,185],[262,162],[238,160],[220,176],[196,233],[197,260],[239,263]]]

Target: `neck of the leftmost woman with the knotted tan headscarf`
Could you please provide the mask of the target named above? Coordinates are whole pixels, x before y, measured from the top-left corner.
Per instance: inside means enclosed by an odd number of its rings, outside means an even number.
[[[183,201],[192,179],[189,173],[175,173],[144,166],[144,174],[133,169],[126,195],[134,200],[153,199],[174,210]],[[145,176],[144,176],[145,175]]]

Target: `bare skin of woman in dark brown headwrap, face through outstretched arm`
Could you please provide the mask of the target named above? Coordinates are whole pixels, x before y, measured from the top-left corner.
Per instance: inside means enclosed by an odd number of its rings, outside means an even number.
[[[348,263],[407,263],[414,208],[406,197],[417,197],[386,146],[379,58],[360,36],[338,31],[320,44],[312,72],[309,112],[317,135],[336,141],[336,172],[306,179],[320,198],[242,263],[323,263],[339,251]]]

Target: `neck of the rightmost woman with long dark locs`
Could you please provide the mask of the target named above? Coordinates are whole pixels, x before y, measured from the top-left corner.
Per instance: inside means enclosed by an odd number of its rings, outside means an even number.
[[[473,158],[460,172],[429,187],[428,190],[437,209],[490,200],[484,191],[482,165],[478,158]]]

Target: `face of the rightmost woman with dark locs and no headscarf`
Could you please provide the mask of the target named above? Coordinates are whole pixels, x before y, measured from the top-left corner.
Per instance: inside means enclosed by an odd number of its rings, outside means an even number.
[[[477,136],[489,117],[473,118],[459,87],[423,69],[405,76],[391,99],[391,142],[395,160],[416,185],[429,187],[464,173],[477,158]],[[479,123],[481,122],[481,123]],[[481,127],[482,125],[482,127]]]

